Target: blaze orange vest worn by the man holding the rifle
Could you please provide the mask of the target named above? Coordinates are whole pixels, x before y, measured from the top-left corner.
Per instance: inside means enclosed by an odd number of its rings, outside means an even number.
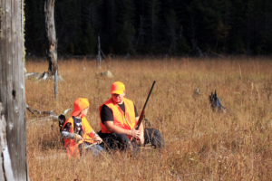
[[[135,125],[137,124],[135,120],[134,104],[131,100],[125,98],[123,98],[123,102],[125,107],[125,113],[121,110],[118,104],[112,100],[112,98],[103,103],[103,105],[106,105],[112,110],[113,125],[118,126],[121,129],[134,129]],[[102,110],[102,106],[99,109],[100,113]],[[100,126],[102,133],[111,133],[107,130],[105,125],[103,125],[102,121],[100,122]]]

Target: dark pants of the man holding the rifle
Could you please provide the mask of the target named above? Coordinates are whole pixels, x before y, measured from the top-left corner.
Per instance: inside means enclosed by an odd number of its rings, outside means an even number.
[[[102,133],[98,135],[103,139],[104,148],[106,149],[139,149],[135,141],[131,141],[127,135],[121,133]],[[166,146],[164,138],[158,129],[144,129],[144,145],[151,144],[154,148],[164,148]]]

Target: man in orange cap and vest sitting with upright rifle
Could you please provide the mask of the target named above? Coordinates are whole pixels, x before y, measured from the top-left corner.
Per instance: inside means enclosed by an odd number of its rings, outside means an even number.
[[[112,84],[112,98],[100,107],[101,131],[98,135],[103,139],[106,148],[138,148],[150,143],[155,148],[165,147],[165,141],[158,129],[135,129],[139,120],[136,106],[125,97],[125,86],[121,81]],[[137,141],[134,141],[137,140]]]

